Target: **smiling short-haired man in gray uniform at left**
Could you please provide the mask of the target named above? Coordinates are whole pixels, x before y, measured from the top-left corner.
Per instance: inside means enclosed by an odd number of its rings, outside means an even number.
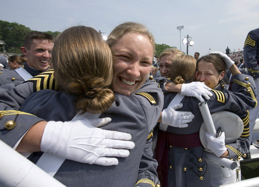
[[[18,69],[1,73],[0,85],[9,83],[18,85],[48,69],[52,48],[51,35],[38,31],[30,32],[25,37],[24,47],[21,47],[22,53],[27,56],[27,61]]]

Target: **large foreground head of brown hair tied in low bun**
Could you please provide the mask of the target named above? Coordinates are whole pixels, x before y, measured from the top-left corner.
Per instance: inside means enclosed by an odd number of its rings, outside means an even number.
[[[95,29],[77,26],[63,31],[55,40],[52,63],[60,89],[79,96],[77,110],[102,113],[114,102],[109,88],[112,53]]]

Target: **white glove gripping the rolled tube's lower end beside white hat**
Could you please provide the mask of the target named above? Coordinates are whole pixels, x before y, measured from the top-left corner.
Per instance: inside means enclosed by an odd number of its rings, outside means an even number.
[[[225,133],[222,132],[221,136],[216,138],[208,133],[205,132],[205,138],[207,140],[207,148],[214,152],[217,157],[220,157],[226,150],[225,146]]]

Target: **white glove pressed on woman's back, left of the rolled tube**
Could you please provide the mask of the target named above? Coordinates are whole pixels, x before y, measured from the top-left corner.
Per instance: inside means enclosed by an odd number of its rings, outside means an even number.
[[[175,111],[177,109],[181,109],[182,107],[183,104],[180,103],[164,109],[162,112],[162,124],[160,124],[159,129],[166,131],[168,125],[179,128],[188,127],[187,123],[190,123],[193,120],[194,115],[192,112]]]

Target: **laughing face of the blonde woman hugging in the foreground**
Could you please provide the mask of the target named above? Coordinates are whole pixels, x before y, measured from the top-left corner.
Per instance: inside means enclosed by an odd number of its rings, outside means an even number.
[[[127,33],[111,47],[113,53],[113,90],[129,96],[140,88],[149,76],[153,46],[142,34]]]

